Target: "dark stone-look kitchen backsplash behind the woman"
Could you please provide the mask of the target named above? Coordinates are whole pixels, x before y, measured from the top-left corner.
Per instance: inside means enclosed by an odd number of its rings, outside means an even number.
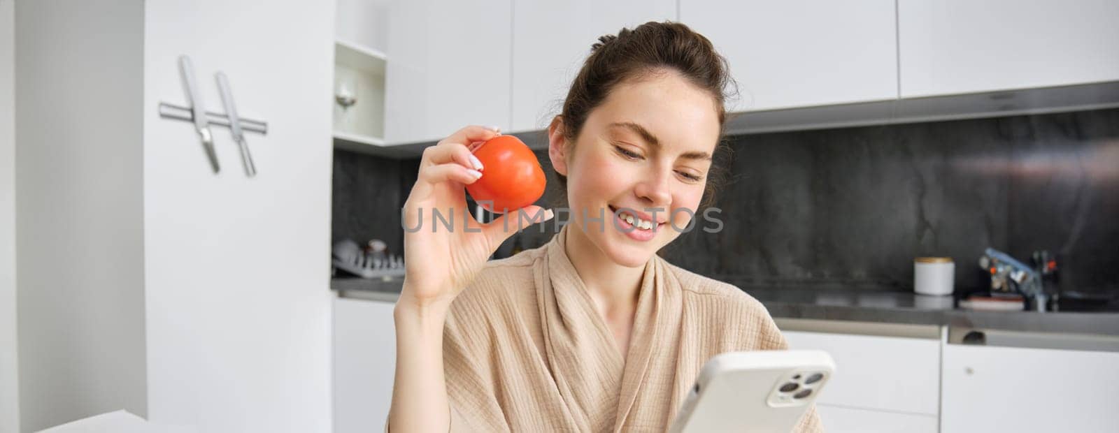
[[[1045,249],[1063,290],[1119,291],[1119,109],[728,141],[723,230],[694,230],[665,251],[686,269],[747,290],[909,290],[914,257],[948,256],[957,288],[969,289],[987,282],[985,248],[1024,261]],[[540,204],[555,203],[547,155],[537,155],[549,172]],[[333,240],[377,238],[401,251],[399,208],[417,167],[336,151]],[[551,235],[519,237],[527,249]]]

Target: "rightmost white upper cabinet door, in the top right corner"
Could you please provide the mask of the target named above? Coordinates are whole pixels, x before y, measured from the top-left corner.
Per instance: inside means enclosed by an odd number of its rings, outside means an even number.
[[[899,0],[901,96],[1119,79],[1113,0]]]

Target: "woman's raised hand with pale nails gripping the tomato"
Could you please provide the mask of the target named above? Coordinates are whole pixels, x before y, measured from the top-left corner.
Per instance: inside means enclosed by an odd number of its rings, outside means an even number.
[[[482,224],[467,209],[466,185],[486,175],[471,150],[498,135],[497,128],[468,126],[424,150],[416,183],[404,202],[406,271],[401,301],[449,306],[501,242],[532,223],[527,218],[518,223],[520,212],[509,212]],[[442,220],[434,218],[436,211]],[[540,211],[536,205],[524,208],[529,218]],[[552,211],[540,214],[545,221],[552,218]],[[513,219],[508,229],[502,224],[506,218]]]

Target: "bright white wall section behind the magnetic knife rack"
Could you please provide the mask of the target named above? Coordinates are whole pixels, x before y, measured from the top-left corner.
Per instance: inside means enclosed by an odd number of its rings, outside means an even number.
[[[149,1],[144,21],[148,414],[205,432],[329,432],[333,2]],[[233,44],[232,44],[233,42]],[[215,127],[213,173],[184,100],[189,55],[209,109],[214,74],[247,133],[246,177]]]

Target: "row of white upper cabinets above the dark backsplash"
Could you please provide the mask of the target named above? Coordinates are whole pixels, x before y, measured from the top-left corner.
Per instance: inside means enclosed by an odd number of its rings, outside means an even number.
[[[356,90],[365,108],[336,107],[337,118],[368,127],[352,132],[383,134],[369,141],[377,146],[429,143],[469,124],[544,129],[599,37],[647,21],[684,22],[726,57],[739,88],[727,108],[746,112],[728,131],[740,133],[1119,99],[1115,86],[1063,87],[1119,83],[1113,0],[339,0],[338,8],[342,45],[384,51],[384,77],[367,74],[382,79],[384,97],[363,96],[377,89],[365,85]],[[1017,95],[1015,104],[985,95],[1007,89],[1044,95]],[[378,104],[384,118],[366,118]]]

